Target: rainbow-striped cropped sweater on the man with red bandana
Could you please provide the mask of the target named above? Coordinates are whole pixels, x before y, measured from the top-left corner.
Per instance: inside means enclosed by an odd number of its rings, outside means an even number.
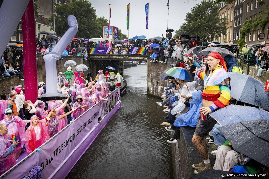
[[[221,67],[219,67],[219,68],[221,68]],[[213,73],[214,73],[214,71],[213,71]],[[199,71],[199,72],[197,72],[197,75],[202,80],[205,80],[205,77],[206,77],[206,79],[208,78],[205,75],[205,71]],[[228,75],[228,78],[226,78],[226,76],[224,75],[224,81],[227,82],[228,80],[229,80],[229,75]],[[206,83],[206,80],[205,80],[205,83]],[[205,86],[206,86],[206,84],[205,84]],[[229,88],[229,86],[222,85],[220,83],[206,86],[202,92],[202,98],[205,100],[208,100],[208,101],[214,101],[214,104],[212,105],[212,107],[214,109],[217,109],[218,107],[224,108],[225,106],[229,105],[230,88]]]

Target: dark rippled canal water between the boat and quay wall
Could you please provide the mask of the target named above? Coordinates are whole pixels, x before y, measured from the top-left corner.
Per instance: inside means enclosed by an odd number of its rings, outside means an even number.
[[[124,70],[122,108],[108,121],[66,178],[173,178],[169,133],[158,98],[147,96],[147,67]]]

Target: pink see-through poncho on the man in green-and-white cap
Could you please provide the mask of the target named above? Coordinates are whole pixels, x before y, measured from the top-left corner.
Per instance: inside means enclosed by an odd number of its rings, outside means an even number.
[[[16,140],[19,141],[19,144],[16,145],[14,150],[14,153],[16,154],[22,148],[21,137],[24,135],[26,121],[13,115],[11,120],[4,118],[0,121],[0,124],[4,124],[8,128],[8,133],[5,135],[8,140],[13,140],[11,138],[13,134],[16,137]]]

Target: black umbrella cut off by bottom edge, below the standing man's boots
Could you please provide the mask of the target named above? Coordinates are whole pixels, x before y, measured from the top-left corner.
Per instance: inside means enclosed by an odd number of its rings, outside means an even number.
[[[222,170],[204,170],[203,172],[193,175],[187,179],[226,179],[226,178],[231,178],[231,179],[256,179],[258,177],[250,177],[250,176],[236,176],[236,173],[232,173],[229,171],[222,171]]]

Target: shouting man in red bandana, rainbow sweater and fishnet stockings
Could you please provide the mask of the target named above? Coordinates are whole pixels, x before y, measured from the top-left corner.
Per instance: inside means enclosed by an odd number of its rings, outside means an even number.
[[[201,116],[197,121],[192,143],[203,161],[192,165],[194,169],[197,169],[194,170],[194,174],[212,169],[204,137],[211,131],[216,121],[209,114],[229,105],[230,100],[230,77],[225,61],[218,52],[208,54],[206,71],[198,71],[196,74],[204,80],[204,90],[203,107],[200,108]]]

